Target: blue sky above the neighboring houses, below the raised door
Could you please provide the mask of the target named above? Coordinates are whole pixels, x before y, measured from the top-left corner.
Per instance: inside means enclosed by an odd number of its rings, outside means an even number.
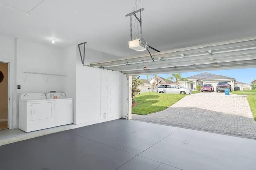
[[[243,68],[243,69],[233,69],[233,70],[216,70],[216,71],[200,71],[200,72],[184,72],[181,73],[183,78],[193,76],[196,74],[200,74],[202,72],[209,72],[212,74],[227,76],[231,78],[235,78],[238,82],[243,82],[247,84],[251,84],[251,81],[256,79],[256,68]],[[170,77],[170,74],[158,74],[158,76],[167,78]],[[152,78],[153,76],[150,76]],[[147,79],[146,75],[141,75],[141,79]]]

